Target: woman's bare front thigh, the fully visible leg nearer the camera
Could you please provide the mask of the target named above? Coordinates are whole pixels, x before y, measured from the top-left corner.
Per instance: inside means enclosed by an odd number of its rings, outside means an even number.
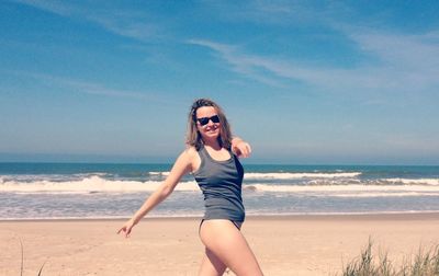
[[[246,239],[230,220],[205,220],[200,229],[200,238],[213,256],[236,275],[262,275]]]

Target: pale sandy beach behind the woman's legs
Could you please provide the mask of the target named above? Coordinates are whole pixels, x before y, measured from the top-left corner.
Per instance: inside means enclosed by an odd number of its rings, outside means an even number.
[[[200,218],[0,222],[0,275],[196,275]],[[392,260],[439,243],[439,214],[248,217],[243,232],[266,275],[335,275],[372,238]],[[229,274],[232,275],[232,273]]]

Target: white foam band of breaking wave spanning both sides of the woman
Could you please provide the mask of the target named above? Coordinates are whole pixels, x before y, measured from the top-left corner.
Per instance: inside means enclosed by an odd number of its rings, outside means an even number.
[[[407,181],[405,184],[404,181]],[[437,181],[437,180],[435,180]],[[288,185],[288,184],[244,184],[247,192],[272,192],[272,193],[328,193],[331,195],[358,192],[362,193],[380,193],[391,196],[391,193],[439,193],[439,185],[431,180],[397,180],[389,181],[390,183],[403,183],[402,185],[383,184],[382,181],[374,184],[361,184],[361,182],[337,184],[337,181],[322,182],[320,184],[312,182],[312,185]],[[334,182],[334,183],[333,183]],[[98,175],[89,176],[78,181],[33,181],[20,182],[15,180],[4,180],[0,177],[0,192],[12,193],[68,193],[68,194],[94,194],[94,193],[135,193],[135,192],[154,192],[164,182],[162,181],[121,181],[105,180]],[[385,183],[385,182],[384,182]],[[184,181],[177,185],[176,191],[199,192],[200,188],[195,181]],[[409,195],[409,194],[406,194]],[[414,194],[412,194],[414,195]]]

